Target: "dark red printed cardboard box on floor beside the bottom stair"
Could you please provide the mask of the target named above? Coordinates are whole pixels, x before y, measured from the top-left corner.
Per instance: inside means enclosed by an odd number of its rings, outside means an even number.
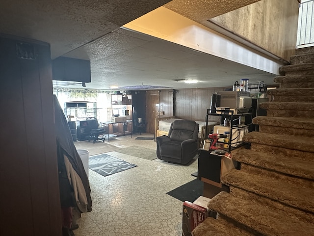
[[[182,214],[182,236],[192,236],[192,231],[207,218],[207,208],[185,201]]]

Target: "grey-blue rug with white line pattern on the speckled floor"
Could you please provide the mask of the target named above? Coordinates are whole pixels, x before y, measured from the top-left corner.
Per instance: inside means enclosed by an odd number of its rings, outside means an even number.
[[[88,159],[89,169],[97,172],[102,176],[109,176],[121,171],[128,170],[135,166],[135,164],[120,160],[119,158],[110,156],[105,153],[91,156]]]

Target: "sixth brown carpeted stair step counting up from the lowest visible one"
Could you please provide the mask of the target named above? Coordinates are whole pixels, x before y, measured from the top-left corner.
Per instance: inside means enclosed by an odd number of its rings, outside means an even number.
[[[314,137],[313,118],[255,117],[252,123],[262,133]]]

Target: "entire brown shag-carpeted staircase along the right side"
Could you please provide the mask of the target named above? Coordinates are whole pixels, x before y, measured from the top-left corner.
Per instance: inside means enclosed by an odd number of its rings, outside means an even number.
[[[230,193],[209,202],[217,218],[193,236],[314,236],[314,47],[295,52],[253,119],[259,132],[244,137],[251,149],[233,155],[240,170],[222,176]]]

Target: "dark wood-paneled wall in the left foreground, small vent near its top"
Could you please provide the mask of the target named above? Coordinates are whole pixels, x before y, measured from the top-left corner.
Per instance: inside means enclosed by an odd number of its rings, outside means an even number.
[[[20,42],[0,37],[0,234],[61,236],[50,47]]]

